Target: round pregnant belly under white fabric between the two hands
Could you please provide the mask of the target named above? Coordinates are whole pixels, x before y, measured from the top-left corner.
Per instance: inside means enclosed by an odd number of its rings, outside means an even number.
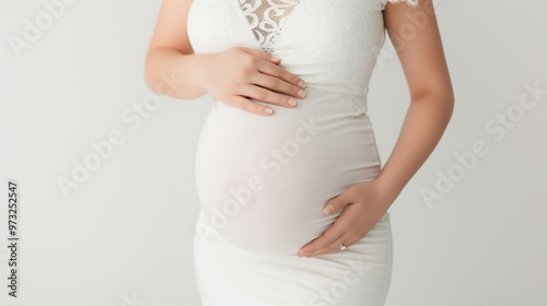
[[[295,108],[269,105],[274,115],[260,116],[213,101],[197,148],[197,191],[233,245],[295,255],[340,214],[325,215],[325,202],[374,179],[381,163],[363,97],[309,86]]]

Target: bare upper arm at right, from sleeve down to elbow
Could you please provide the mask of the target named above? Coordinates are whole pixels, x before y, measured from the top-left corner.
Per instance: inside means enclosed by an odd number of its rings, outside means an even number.
[[[387,3],[384,10],[387,34],[397,51],[412,97],[440,94],[453,98],[432,0],[419,7]]]

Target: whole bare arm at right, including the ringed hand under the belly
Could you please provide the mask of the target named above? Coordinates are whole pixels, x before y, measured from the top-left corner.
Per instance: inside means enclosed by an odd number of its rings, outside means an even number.
[[[354,184],[325,203],[324,209],[344,209],[325,233],[305,245],[299,257],[340,251],[351,247],[382,219],[403,188],[439,143],[452,117],[454,92],[444,58],[432,0],[419,0],[419,8],[401,2],[387,3],[384,23],[401,63],[410,90],[410,106],[389,158],[372,181]],[[423,27],[407,37],[404,28],[426,17]],[[333,209],[329,209],[331,205]]]

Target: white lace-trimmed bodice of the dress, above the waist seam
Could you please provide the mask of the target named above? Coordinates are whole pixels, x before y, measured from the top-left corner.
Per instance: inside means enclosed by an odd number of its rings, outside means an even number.
[[[384,39],[387,2],[418,0],[194,0],[188,36],[196,54],[261,49],[309,86],[366,95]]]

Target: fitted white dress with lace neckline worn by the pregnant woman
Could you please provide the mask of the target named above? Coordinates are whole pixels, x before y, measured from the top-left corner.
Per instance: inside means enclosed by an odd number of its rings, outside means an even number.
[[[197,148],[194,244],[203,306],[379,306],[392,273],[389,214],[337,254],[299,258],[331,226],[325,202],[381,170],[366,114],[399,0],[194,0],[196,54],[261,49],[306,82],[294,108],[261,116],[214,99]],[[417,5],[417,0],[407,0]]]

